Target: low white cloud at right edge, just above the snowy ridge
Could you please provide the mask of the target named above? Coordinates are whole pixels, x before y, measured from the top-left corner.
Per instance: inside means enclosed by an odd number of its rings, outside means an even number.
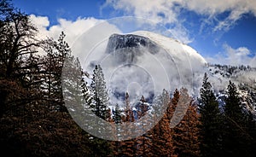
[[[210,63],[225,64],[232,66],[248,65],[256,67],[256,56],[251,57],[250,49],[246,47],[239,47],[234,49],[228,44],[224,44],[224,52],[218,53],[218,55],[207,57],[207,61]]]

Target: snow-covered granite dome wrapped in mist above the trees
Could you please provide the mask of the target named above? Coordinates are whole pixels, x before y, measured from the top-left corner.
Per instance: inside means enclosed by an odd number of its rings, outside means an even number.
[[[196,95],[195,73],[201,73],[207,63],[188,45],[144,31],[111,35],[101,61],[94,62],[102,65],[110,97],[117,101],[126,91],[134,100],[140,96],[150,99],[163,89],[172,92],[181,87]]]

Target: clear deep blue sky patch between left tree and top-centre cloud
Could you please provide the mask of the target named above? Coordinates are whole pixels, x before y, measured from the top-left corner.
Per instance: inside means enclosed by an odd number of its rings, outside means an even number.
[[[56,25],[59,18],[67,20],[76,20],[79,16],[102,18],[100,9],[104,1],[13,0],[13,3],[28,15],[48,16],[50,25]]]

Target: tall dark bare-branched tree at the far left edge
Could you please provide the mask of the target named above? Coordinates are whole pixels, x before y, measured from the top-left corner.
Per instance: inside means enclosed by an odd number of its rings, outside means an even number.
[[[38,47],[42,44],[36,38],[37,28],[32,25],[29,16],[15,9],[7,0],[0,2],[0,81],[9,85],[18,85],[25,92],[14,96],[11,104],[22,106],[32,102],[36,96],[32,88],[38,87]],[[2,86],[3,87],[3,86]],[[17,87],[17,86],[16,86]],[[15,86],[9,86],[13,89]],[[0,89],[0,117],[9,108],[9,91]]]

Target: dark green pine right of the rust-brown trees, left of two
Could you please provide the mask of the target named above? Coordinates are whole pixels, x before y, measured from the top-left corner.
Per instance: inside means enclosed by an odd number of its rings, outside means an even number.
[[[203,78],[200,96],[198,107],[201,114],[201,154],[202,156],[218,156],[222,148],[221,113],[207,73]]]

